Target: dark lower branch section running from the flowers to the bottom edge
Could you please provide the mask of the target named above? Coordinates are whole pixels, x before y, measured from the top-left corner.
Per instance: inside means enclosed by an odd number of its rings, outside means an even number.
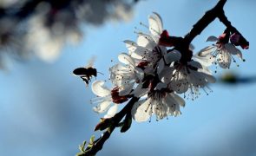
[[[108,127],[108,130],[106,130],[104,133],[102,133],[101,137],[94,141],[94,146],[87,147],[85,149],[86,153],[82,153],[79,156],[91,156],[98,153],[100,150],[102,150],[102,147],[106,140],[110,137],[111,133],[115,130],[115,127],[118,127],[118,124],[121,122],[121,119],[127,115],[131,114],[131,109],[134,106],[136,101],[139,101],[140,98],[133,97],[130,101],[128,101],[128,104],[121,109],[121,111],[118,114],[115,114],[114,117],[111,118],[112,124],[110,127]]]

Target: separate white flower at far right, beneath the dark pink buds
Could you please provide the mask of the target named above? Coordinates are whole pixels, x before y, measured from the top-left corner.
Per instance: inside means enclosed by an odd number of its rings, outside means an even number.
[[[237,55],[240,60],[243,60],[240,49],[237,49],[232,43],[221,42],[215,36],[209,36],[207,42],[216,43],[213,46],[200,50],[197,56],[195,56],[204,65],[209,66],[213,63],[218,63],[220,68],[230,68],[231,62],[236,62],[233,55]]]

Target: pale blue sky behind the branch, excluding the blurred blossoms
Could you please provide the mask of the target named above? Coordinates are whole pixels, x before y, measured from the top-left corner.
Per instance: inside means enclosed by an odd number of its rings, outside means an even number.
[[[108,68],[121,52],[123,40],[135,40],[135,26],[148,23],[148,15],[158,12],[164,28],[173,36],[183,36],[217,1],[147,0],[135,6],[128,23],[106,23],[85,29],[84,41],[67,46],[54,63],[32,59],[14,62],[9,72],[0,73],[0,153],[1,155],[74,155],[83,140],[89,140],[102,115],[92,111],[90,88],[71,75],[96,56],[95,67],[108,79]],[[226,16],[246,36],[250,49],[243,50],[246,62],[231,70],[240,75],[256,75],[255,2],[233,0],[226,3]],[[207,46],[207,36],[219,36],[225,27],[218,20],[198,36],[195,51]],[[216,75],[223,73],[218,70]],[[187,100],[182,115],[169,120],[135,123],[127,133],[118,129],[98,155],[255,155],[256,84],[226,86],[213,84],[213,93],[201,92],[196,101]]]

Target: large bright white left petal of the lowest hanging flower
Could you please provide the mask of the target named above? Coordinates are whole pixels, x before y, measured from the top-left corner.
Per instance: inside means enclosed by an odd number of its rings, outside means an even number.
[[[131,114],[133,119],[137,122],[143,122],[150,118],[150,99],[135,102]]]

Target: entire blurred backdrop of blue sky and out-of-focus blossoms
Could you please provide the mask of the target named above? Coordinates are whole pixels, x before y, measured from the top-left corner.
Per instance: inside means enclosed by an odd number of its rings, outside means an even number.
[[[95,55],[94,67],[104,74],[97,80],[108,80],[116,56],[127,52],[122,41],[136,40],[135,27],[147,31],[139,23],[148,24],[153,11],[170,35],[184,36],[217,0],[62,2],[0,0],[0,155],[78,153],[83,140],[100,136],[93,130],[103,114],[92,111],[95,95],[73,69]],[[242,50],[246,62],[237,59],[240,67],[229,70],[241,77],[256,75],[255,4],[233,0],[225,6],[250,42]],[[28,10],[19,11],[21,6]],[[215,20],[194,40],[194,51],[224,29]],[[214,75],[224,73],[218,68]],[[256,155],[256,83],[218,81],[210,87],[213,93],[187,100],[179,117],[133,122],[127,133],[116,129],[98,155]]]

